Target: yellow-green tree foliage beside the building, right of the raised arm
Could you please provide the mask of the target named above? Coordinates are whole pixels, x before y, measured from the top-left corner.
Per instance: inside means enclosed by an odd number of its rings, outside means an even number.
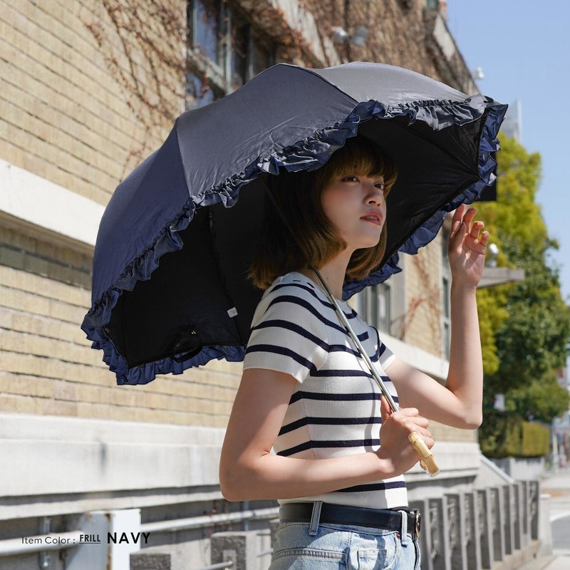
[[[570,338],[570,308],[560,294],[559,275],[548,261],[558,244],[549,238],[535,202],[541,177],[537,152],[512,139],[498,153],[497,202],[477,204],[499,247],[497,265],[524,269],[525,279],[478,291],[485,375],[485,405],[504,393],[507,409],[526,418],[551,421],[569,406],[556,383]]]

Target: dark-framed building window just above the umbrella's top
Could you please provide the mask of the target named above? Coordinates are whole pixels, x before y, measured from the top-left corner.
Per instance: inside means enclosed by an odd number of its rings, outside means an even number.
[[[212,103],[275,63],[275,46],[235,6],[190,0],[186,108]]]

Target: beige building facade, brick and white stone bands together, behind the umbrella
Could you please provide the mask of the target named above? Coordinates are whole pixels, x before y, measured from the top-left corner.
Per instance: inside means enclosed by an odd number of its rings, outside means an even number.
[[[80,328],[103,207],[194,101],[185,85],[186,55],[202,80],[209,74],[212,90],[220,73],[186,44],[187,4],[0,0],[0,455],[13,454],[14,465],[8,487],[0,482],[0,539],[15,536],[6,521],[25,517],[26,532],[34,534],[34,517],[51,514],[148,507],[152,519],[160,509],[172,516],[165,505],[192,501],[209,505],[192,507],[192,516],[219,509],[212,503],[222,500],[217,457],[241,365],[215,361],[118,387]],[[345,16],[341,0],[227,3],[253,24],[263,46],[274,47],[274,61],[392,63],[474,92],[444,19],[425,4],[352,0]],[[359,25],[368,27],[365,47],[333,43],[331,27],[351,32]],[[224,86],[231,90],[231,82],[218,88]],[[403,326],[393,342],[410,363],[443,380],[441,268],[440,237],[406,259]],[[116,435],[121,425],[124,437]],[[440,442],[471,444],[467,467],[457,467],[460,445],[444,444],[441,452],[450,454],[443,457],[450,477],[473,477],[475,432],[432,431]],[[28,477],[22,449],[36,450],[49,477]],[[138,472],[125,484],[133,465]],[[145,465],[162,465],[164,474],[152,478]],[[53,504],[30,495],[49,495]],[[206,565],[207,558],[195,560]]]

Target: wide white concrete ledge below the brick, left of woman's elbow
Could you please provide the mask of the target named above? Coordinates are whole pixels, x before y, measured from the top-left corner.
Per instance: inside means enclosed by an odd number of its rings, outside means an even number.
[[[212,427],[0,414],[0,455],[10,457],[0,497],[217,485],[223,437]]]

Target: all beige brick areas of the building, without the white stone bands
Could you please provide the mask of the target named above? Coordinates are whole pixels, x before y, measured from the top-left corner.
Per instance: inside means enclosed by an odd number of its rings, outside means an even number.
[[[160,21],[136,28],[129,7],[146,6],[137,15],[153,21],[152,9],[142,0],[1,1],[0,41],[6,57],[0,60],[0,75],[6,88],[0,95],[0,159],[105,205],[125,174],[160,145],[169,121],[184,107],[177,62],[151,71],[163,62],[149,48],[175,53],[176,38],[160,43],[160,31],[167,28]],[[327,50],[317,49],[328,39],[326,30],[342,5],[306,2],[318,26],[300,28],[304,33],[296,35],[296,22],[287,21],[279,2],[268,2],[259,21],[271,30],[270,23],[281,18],[281,41],[286,45],[284,38],[290,36],[297,48],[279,53],[298,63],[319,63],[315,54],[321,53],[326,66],[335,59],[333,53],[340,61],[347,55],[384,61],[440,79],[445,79],[442,69],[465,75],[457,62],[446,66],[435,53],[437,43],[426,28],[421,2],[353,2],[348,28],[369,26],[366,48],[347,53],[329,41]],[[178,18],[185,25],[183,1],[168,0],[164,6],[171,22]],[[244,13],[259,11],[259,6],[242,2]],[[154,15],[159,13],[156,9]],[[142,38],[140,29],[146,30]],[[183,36],[178,40],[182,53]],[[66,204],[59,208],[65,217]],[[3,217],[0,242],[0,311],[6,323],[0,341],[6,393],[2,409],[224,427],[239,366],[217,363],[135,389],[114,388],[113,374],[78,328],[90,304],[92,245],[66,247],[57,232],[16,231],[10,218]],[[409,259],[401,337],[435,356],[442,356],[440,266],[440,237]]]

